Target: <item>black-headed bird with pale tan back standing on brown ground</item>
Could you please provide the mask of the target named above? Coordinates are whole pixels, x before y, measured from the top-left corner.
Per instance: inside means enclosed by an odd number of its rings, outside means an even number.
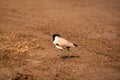
[[[61,35],[59,35],[59,34],[53,34],[52,39],[53,39],[53,44],[59,50],[67,49],[68,52],[69,52],[69,49],[71,47],[77,47],[78,46],[77,44],[74,44],[74,43],[62,38]]]

